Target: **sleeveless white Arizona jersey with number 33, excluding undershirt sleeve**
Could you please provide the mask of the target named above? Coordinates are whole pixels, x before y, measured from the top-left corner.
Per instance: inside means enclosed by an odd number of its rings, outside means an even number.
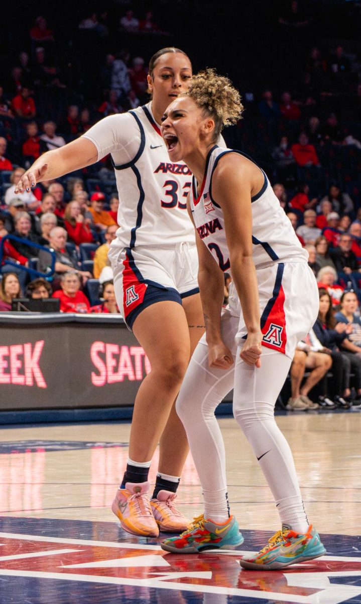
[[[151,103],[128,112],[140,130],[133,160],[116,165],[119,191],[117,239],[112,246],[134,248],[194,242],[186,201],[192,174],[183,162],[169,161]]]

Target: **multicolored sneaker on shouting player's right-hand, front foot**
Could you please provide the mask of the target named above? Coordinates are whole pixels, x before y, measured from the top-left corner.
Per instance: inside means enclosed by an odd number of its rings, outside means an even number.
[[[258,554],[243,556],[239,564],[250,570],[277,570],[290,564],[313,560],[325,553],[318,533],[310,524],[306,535],[295,533],[289,528],[279,530]]]

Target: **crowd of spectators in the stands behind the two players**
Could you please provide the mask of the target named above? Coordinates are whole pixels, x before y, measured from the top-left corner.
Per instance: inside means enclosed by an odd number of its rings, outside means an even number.
[[[289,2],[278,19],[282,35],[308,27],[299,4]],[[119,205],[110,158],[14,194],[41,153],[148,101],[153,48],[149,42],[146,50],[146,40],[157,36],[166,46],[172,34],[152,11],[138,14],[127,4],[116,27],[132,50],[116,45],[107,10],[84,14],[75,30],[89,62],[77,62],[69,58],[69,39],[62,45],[38,15],[17,56],[0,69],[0,240],[14,236],[1,243],[1,312],[26,294],[60,298],[61,312],[119,313],[107,259]],[[243,91],[245,118],[224,133],[229,147],[265,169],[319,285],[318,320],[292,364],[291,410],[361,402],[361,64],[352,43],[331,37],[303,51],[292,89],[278,82]],[[77,77],[69,76],[62,53],[77,63]]]

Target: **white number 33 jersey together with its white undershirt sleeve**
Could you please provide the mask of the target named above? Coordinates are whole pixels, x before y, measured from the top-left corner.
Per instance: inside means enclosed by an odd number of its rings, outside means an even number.
[[[115,167],[120,203],[112,248],[195,243],[186,207],[192,175],[183,162],[169,162],[151,103],[110,115],[83,136],[95,144],[98,159],[111,153]]]

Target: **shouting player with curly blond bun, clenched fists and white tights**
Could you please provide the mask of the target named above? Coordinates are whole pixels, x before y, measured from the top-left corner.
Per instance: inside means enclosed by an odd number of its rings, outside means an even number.
[[[307,521],[294,461],[274,420],[274,403],[297,342],[318,313],[318,290],[294,230],[265,173],[243,153],[219,148],[222,124],[242,114],[239,93],[212,69],[163,116],[171,162],[193,173],[190,213],[198,231],[198,282],[206,334],[196,347],[177,399],[204,493],[204,515],[162,547],[177,553],[234,548],[243,542],[230,516],[225,451],[215,408],[234,388],[234,417],[259,460],[282,522],[244,568],[273,570],[325,553]],[[223,312],[223,271],[231,272]],[[262,353],[262,355],[261,355]]]

